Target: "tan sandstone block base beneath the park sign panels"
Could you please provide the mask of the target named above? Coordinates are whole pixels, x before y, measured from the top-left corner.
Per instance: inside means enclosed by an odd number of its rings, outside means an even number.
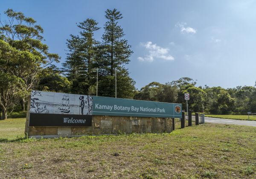
[[[27,122],[28,123],[28,122]],[[98,134],[131,134],[172,132],[172,118],[92,116],[89,127],[26,127],[29,137],[77,137]]]

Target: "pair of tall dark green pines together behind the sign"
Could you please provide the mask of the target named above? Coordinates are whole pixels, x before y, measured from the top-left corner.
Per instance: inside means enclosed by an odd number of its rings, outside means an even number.
[[[133,98],[134,80],[129,77],[125,65],[128,64],[132,51],[127,40],[124,40],[122,28],[118,20],[122,14],[114,9],[107,10],[107,22],[102,43],[94,39],[94,32],[99,30],[98,23],[87,19],[78,24],[82,29],[79,36],[70,35],[67,40],[67,58],[62,70],[71,82],[72,93],[96,94],[96,68],[98,73],[98,95],[115,96],[115,82],[117,83],[117,97]],[[115,81],[115,71],[116,81]]]

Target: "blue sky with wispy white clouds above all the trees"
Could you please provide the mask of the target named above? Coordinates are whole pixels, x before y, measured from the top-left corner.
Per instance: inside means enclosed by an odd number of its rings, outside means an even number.
[[[51,53],[65,61],[76,23],[93,18],[101,27],[105,11],[116,8],[119,25],[134,53],[126,66],[140,89],[190,77],[197,85],[253,86],[256,80],[255,0],[0,0],[1,20],[8,8],[33,17],[44,28]]]

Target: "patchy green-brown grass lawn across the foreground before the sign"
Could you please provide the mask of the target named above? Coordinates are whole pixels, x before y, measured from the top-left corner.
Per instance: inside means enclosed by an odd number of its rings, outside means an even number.
[[[0,138],[10,139],[23,131],[3,130],[1,123]],[[163,134],[2,140],[0,178],[252,179],[255,134],[255,127],[208,123]]]

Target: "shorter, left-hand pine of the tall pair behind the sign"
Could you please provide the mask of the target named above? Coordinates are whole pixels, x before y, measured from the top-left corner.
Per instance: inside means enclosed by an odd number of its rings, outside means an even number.
[[[71,36],[67,40],[69,53],[63,64],[64,71],[70,81],[73,82],[73,93],[88,94],[90,86],[93,86],[96,78],[96,56],[99,42],[94,39],[94,32],[99,30],[98,23],[93,19],[87,19],[77,26],[82,29],[80,36]]]

